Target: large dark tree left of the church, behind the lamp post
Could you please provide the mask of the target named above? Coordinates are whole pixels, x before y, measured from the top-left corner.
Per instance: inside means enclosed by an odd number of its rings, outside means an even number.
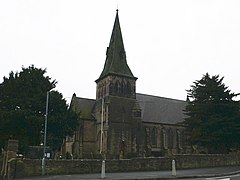
[[[0,84],[0,146],[9,138],[18,139],[20,151],[43,142],[46,94],[49,95],[47,145],[60,148],[66,135],[77,126],[77,115],[68,109],[62,94],[53,90],[56,80],[45,76],[46,69],[33,65],[20,73],[10,72]]]

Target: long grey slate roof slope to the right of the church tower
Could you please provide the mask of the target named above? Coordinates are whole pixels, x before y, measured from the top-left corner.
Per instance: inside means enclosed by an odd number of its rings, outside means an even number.
[[[136,98],[142,110],[143,122],[177,124],[186,117],[183,113],[186,101],[138,93]]]

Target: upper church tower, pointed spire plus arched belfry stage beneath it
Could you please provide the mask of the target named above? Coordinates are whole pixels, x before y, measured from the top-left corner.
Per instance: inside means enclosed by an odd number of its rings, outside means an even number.
[[[136,80],[127,64],[117,10],[107,47],[105,65],[100,77],[96,80],[96,99],[106,96],[136,98]]]

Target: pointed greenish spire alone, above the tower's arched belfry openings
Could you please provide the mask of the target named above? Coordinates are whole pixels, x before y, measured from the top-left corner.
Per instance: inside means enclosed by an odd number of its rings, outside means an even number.
[[[127,64],[126,53],[123,45],[123,38],[118,17],[118,9],[116,11],[117,12],[112,30],[112,35],[109,47],[107,48],[106,52],[104,69],[96,82],[109,74],[135,78]]]

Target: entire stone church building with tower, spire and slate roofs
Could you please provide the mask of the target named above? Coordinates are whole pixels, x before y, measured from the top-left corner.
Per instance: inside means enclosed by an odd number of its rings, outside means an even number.
[[[186,153],[186,102],[136,93],[137,79],[127,64],[117,11],[96,99],[73,95],[70,108],[79,126],[65,139],[63,153],[116,159]]]

